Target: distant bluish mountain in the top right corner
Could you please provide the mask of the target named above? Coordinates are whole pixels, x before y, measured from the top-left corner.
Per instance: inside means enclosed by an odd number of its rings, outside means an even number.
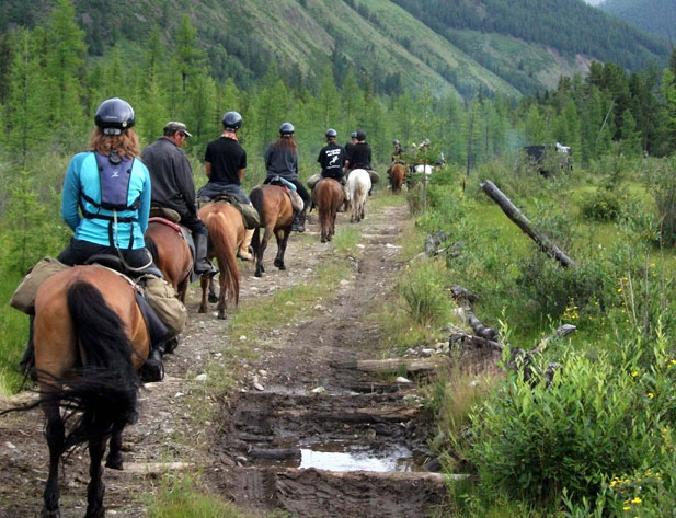
[[[599,9],[621,18],[646,33],[676,39],[676,1],[606,0]]]

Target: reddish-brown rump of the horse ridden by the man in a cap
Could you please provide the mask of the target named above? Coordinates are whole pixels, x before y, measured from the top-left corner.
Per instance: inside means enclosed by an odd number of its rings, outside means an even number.
[[[164,275],[164,279],[174,287],[181,302],[185,302],[193,270],[193,255],[181,228],[163,218],[150,218],[144,238],[152,254],[152,261]]]

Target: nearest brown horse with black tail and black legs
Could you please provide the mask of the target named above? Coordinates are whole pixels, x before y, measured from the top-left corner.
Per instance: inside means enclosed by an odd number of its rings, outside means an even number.
[[[137,369],[150,341],[134,288],[100,266],[76,266],[48,278],[35,297],[35,369],[47,418],[49,476],[42,518],[59,518],[59,461],[88,442],[90,483],[84,518],[104,516],[101,462],[122,469],[122,431],[136,422]],[[70,411],[66,419],[61,407]],[[77,418],[76,418],[77,416]],[[69,419],[70,417],[70,419]],[[73,421],[68,426],[68,421]]]

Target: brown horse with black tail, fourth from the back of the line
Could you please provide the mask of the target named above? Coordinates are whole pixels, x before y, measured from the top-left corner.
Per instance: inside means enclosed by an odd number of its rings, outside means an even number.
[[[263,272],[265,272],[263,254],[273,233],[277,238],[277,255],[275,256],[274,264],[279,269],[286,269],[284,253],[286,252],[286,243],[291,233],[291,222],[294,221],[294,207],[289,196],[278,185],[257,185],[251,191],[249,199],[251,199],[261,217],[261,225],[255,229],[251,241],[256,262],[254,275],[261,277]],[[265,229],[265,233],[261,239],[262,228]]]

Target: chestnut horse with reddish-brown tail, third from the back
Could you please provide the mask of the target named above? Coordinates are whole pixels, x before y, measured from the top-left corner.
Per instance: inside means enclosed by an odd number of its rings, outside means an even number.
[[[199,219],[209,231],[209,256],[218,260],[218,278],[220,291],[218,296],[218,318],[226,318],[228,300],[234,306],[240,299],[240,268],[237,264],[237,251],[244,241],[244,221],[239,210],[226,202],[216,202],[199,209]],[[199,312],[207,311],[207,288],[209,301],[216,301],[214,279],[202,278],[202,303]]]

